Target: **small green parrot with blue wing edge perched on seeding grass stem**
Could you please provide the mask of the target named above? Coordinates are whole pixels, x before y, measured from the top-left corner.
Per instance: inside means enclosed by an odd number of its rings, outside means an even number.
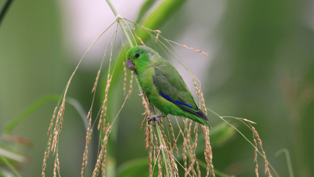
[[[172,114],[210,127],[181,75],[156,51],[146,46],[132,47],[127,51],[127,68],[138,75],[143,92],[161,112],[148,117],[148,122],[155,120],[159,124],[159,117]]]

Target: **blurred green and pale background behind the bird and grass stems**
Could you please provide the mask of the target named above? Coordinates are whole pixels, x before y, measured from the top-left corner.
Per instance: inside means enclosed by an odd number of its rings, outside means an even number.
[[[123,17],[136,20],[143,2],[112,3]],[[0,0],[0,5],[3,4]],[[105,1],[14,1],[0,26],[0,130],[3,132],[14,117],[42,95],[61,94],[78,60],[114,18]],[[274,157],[281,148],[289,150],[295,176],[313,176],[312,0],[186,1],[159,28],[167,39],[208,52],[206,57],[176,46],[201,80],[208,108],[221,116],[256,122],[254,127],[263,141],[268,161],[279,176],[289,176],[284,154]],[[88,53],[68,90],[68,96],[77,99],[86,112],[107,43],[108,36],[104,36]],[[106,79],[107,64],[100,83],[104,82],[102,78]],[[178,69],[192,91],[186,71],[180,66]],[[115,108],[111,117],[124,100],[122,75],[116,83],[109,96]],[[101,92],[105,88],[101,85],[93,116],[102,102]],[[195,91],[192,93],[195,95]],[[121,169],[121,164],[132,159],[147,158],[144,130],[140,129],[144,109],[136,94],[122,109],[115,124],[115,136],[108,143],[108,161],[113,168]],[[34,143],[27,152],[30,162],[19,170],[22,176],[41,175],[46,132],[56,104],[54,101],[44,104],[11,133]],[[60,174],[80,176],[86,130],[69,104],[64,116],[59,138]],[[212,126],[222,122],[213,114],[208,117]],[[232,119],[230,122],[236,123],[252,140],[252,131],[246,126]],[[174,131],[176,135],[179,132]],[[95,133],[89,148],[89,152],[94,152],[89,156],[93,166],[98,142]],[[198,157],[202,158],[202,154]],[[51,154],[47,160],[46,176],[53,176],[54,158]],[[238,134],[228,143],[213,147],[214,168],[228,175],[254,176],[253,160],[254,149]],[[258,162],[259,174],[264,176],[261,156]],[[142,174],[147,173],[144,168]]]

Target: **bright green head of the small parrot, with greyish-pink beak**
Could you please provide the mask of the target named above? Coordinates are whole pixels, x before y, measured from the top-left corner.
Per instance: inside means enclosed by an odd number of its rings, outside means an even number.
[[[142,73],[151,63],[152,56],[156,52],[146,46],[135,46],[127,51],[127,68],[135,75]]]

